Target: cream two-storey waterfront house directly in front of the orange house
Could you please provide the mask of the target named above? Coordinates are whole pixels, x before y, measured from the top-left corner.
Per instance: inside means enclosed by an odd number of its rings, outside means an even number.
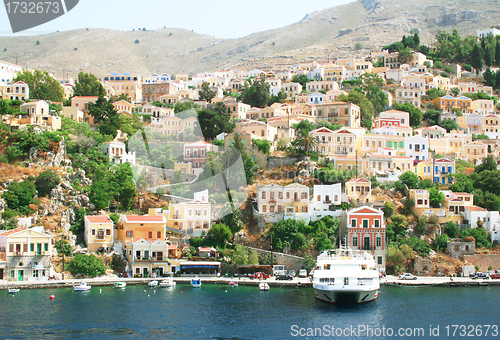
[[[131,237],[125,240],[123,253],[134,277],[161,277],[171,272],[164,240]]]

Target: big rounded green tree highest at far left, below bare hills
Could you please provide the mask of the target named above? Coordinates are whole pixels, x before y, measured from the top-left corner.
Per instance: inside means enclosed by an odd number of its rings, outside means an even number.
[[[23,81],[30,89],[30,98],[39,100],[50,100],[62,102],[64,90],[56,79],[50,76],[47,71],[34,70],[33,72],[23,70],[17,74],[12,82]]]

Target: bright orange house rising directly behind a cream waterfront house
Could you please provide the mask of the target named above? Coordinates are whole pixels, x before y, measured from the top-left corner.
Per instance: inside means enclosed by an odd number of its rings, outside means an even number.
[[[124,244],[130,238],[165,239],[164,216],[122,215],[118,223],[118,239]]]

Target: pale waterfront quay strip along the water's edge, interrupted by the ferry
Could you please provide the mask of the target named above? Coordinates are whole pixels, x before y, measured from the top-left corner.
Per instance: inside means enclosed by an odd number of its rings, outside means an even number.
[[[174,277],[177,283],[189,284],[193,276]],[[216,276],[200,276],[203,283],[206,284],[220,284],[228,285],[230,281],[235,281],[242,286],[257,286],[261,281],[252,280],[247,277],[216,277]],[[67,279],[67,280],[51,280],[51,281],[0,281],[0,290],[7,288],[21,288],[21,289],[38,289],[38,288],[59,288],[59,287],[73,287],[79,285],[81,282],[87,282],[91,286],[112,286],[115,282],[126,282],[127,285],[146,285],[150,281],[161,281],[163,278],[119,278],[119,277],[97,277],[91,279]],[[276,280],[272,277],[265,280],[270,286],[277,287],[311,287],[309,278],[294,278],[291,281]],[[419,276],[417,280],[399,280],[396,276],[388,275],[380,279],[380,285],[390,286],[486,286],[486,285],[500,285],[500,280],[492,279],[471,279],[468,277],[436,277],[436,276]]]

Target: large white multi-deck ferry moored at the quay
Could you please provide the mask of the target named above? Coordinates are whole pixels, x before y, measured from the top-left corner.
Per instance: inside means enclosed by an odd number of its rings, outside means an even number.
[[[313,288],[314,296],[326,302],[335,303],[342,295],[357,303],[373,301],[380,289],[375,259],[362,250],[325,250],[316,262]]]

